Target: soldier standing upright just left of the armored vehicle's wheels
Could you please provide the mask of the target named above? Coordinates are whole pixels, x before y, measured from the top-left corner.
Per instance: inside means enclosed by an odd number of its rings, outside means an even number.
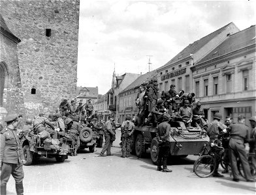
[[[131,151],[131,135],[135,131],[135,124],[131,122],[131,116],[127,115],[125,117],[125,121],[121,124],[121,138],[122,138],[122,146],[121,146],[121,157],[125,158],[130,157]]]

